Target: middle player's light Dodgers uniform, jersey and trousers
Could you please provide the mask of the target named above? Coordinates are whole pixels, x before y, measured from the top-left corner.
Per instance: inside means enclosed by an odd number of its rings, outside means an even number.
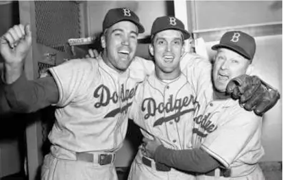
[[[141,83],[130,112],[130,118],[142,128],[143,136],[156,136],[164,146],[177,150],[192,146],[193,116],[201,109],[196,95],[205,83],[211,83],[208,60],[186,53],[180,66],[182,74],[170,83],[158,79],[155,74]],[[141,158],[138,152],[128,179],[195,179],[174,168],[169,172],[150,168]]]

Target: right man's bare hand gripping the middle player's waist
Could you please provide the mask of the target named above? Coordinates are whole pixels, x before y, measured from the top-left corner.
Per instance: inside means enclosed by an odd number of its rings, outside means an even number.
[[[153,140],[143,138],[143,148],[145,149],[144,155],[153,158],[156,149],[160,145],[162,145],[162,142],[156,137],[153,137]]]

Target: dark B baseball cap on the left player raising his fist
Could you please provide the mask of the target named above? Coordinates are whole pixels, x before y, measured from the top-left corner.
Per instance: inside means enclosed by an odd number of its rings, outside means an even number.
[[[129,8],[114,8],[109,10],[102,23],[103,31],[120,21],[131,21],[138,27],[138,33],[145,31],[143,25],[140,24],[138,16]]]

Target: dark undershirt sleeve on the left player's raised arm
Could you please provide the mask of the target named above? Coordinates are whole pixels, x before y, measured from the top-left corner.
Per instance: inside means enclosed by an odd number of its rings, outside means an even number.
[[[4,90],[12,112],[36,112],[57,103],[59,97],[53,77],[27,81],[23,74],[14,83],[6,84]]]

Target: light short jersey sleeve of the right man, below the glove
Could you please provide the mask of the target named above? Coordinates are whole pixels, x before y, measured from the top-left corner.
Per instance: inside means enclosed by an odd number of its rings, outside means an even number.
[[[219,160],[225,167],[229,167],[234,162],[258,128],[261,128],[260,117],[254,112],[241,110],[241,112],[231,114],[231,118],[210,133],[201,144],[201,149]]]

